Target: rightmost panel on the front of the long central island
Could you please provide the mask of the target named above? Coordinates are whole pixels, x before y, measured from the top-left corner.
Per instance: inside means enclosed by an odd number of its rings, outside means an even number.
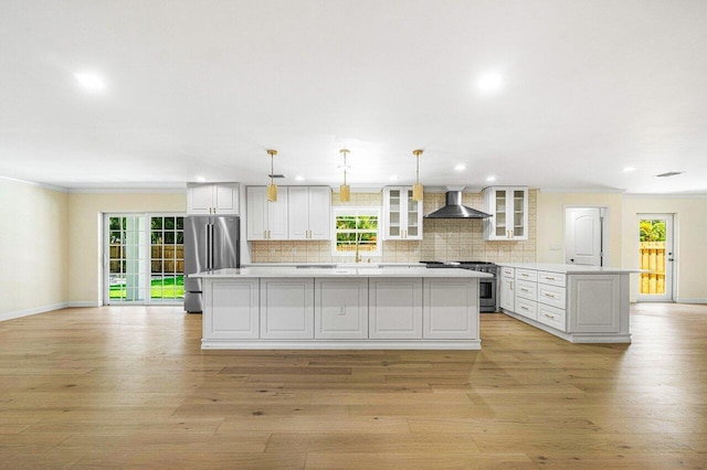
[[[469,340],[478,335],[478,279],[424,279],[422,338]]]

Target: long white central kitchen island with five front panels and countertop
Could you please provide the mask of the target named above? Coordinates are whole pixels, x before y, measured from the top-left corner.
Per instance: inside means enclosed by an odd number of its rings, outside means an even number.
[[[478,278],[425,267],[245,267],[203,279],[202,349],[481,349]]]

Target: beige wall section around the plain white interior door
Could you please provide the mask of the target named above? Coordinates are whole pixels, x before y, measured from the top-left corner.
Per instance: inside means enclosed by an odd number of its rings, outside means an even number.
[[[609,209],[608,266],[622,264],[622,204],[620,193],[538,192],[538,263],[564,263],[564,207],[601,206]],[[559,248],[559,249],[558,249]]]

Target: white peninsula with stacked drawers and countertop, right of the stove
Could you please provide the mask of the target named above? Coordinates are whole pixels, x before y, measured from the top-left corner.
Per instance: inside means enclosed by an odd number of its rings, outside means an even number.
[[[629,275],[639,269],[500,263],[500,311],[573,343],[630,343]]]

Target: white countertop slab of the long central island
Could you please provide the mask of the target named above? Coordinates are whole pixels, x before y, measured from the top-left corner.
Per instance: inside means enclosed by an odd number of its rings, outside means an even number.
[[[249,279],[249,278],[334,278],[334,277],[398,277],[398,278],[483,278],[493,277],[488,273],[468,269],[428,269],[424,266],[383,266],[383,267],[304,267],[296,266],[251,266],[244,268],[215,269],[202,271],[189,277],[201,279]]]

